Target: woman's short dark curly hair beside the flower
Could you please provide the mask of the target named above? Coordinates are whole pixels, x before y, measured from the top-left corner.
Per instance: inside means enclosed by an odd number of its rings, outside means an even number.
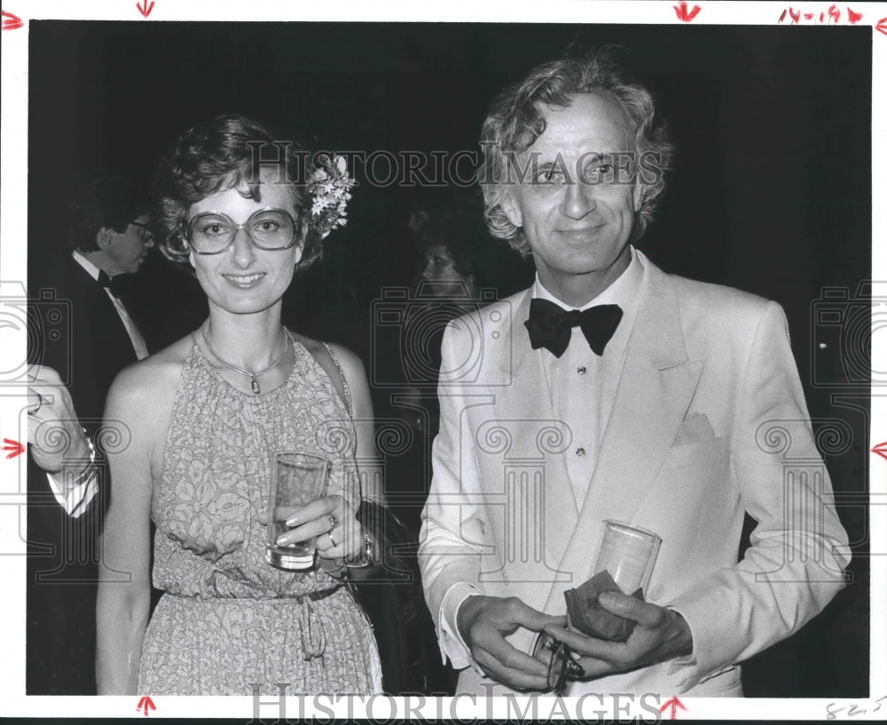
[[[271,170],[279,183],[289,184],[297,227],[311,219],[311,197],[306,180],[307,154],[296,144],[271,136],[260,122],[236,113],[223,113],[184,131],[161,159],[153,181],[151,224],[161,252],[170,260],[188,262],[186,238],[191,205],[219,191],[247,182],[251,198],[261,201],[261,172]],[[268,160],[268,157],[272,157]],[[318,230],[309,223],[302,243],[299,268],[308,267],[323,253]]]

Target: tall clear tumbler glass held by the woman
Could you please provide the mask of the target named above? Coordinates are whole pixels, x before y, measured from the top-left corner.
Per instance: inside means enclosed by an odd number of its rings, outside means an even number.
[[[330,462],[326,458],[310,453],[283,451],[274,456],[268,496],[271,522],[265,545],[265,561],[270,565],[289,572],[314,568],[314,537],[305,542],[278,546],[278,537],[289,530],[286,520],[278,520],[278,509],[304,506],[325,496],[329,467]]]

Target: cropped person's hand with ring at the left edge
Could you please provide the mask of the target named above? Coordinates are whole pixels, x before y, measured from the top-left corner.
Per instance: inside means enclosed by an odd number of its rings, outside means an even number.
[[[90,463],[71,395],[59,373],[35,366],[27,385],[27,443],[35,464],[53,476],[74,477]]]

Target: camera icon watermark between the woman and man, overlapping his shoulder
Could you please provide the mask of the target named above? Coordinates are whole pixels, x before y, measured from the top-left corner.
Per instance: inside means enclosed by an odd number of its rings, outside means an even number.
[[[459,283],[453,283],[459,285]],[[512,321],[508,300],[497,300],[494,289],[483,289],[471,297],[465,286],[461,295],[437,292],[438,285],[420,285],[413,295],[405,287],[382,291],[372,303],[370,380],[376,387],[473,385],[492,345],[500,361],[511,368],[510,339],[506,331]],[[441,340],[447,326],[458,337],[450,355],[441,355]],[[503,335],[505,337],[503,338]]]

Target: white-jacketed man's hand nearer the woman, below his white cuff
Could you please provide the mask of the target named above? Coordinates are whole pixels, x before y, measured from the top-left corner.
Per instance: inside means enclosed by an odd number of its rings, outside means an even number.
[[[459,607],[457,627],[471,657],[485,674],[515,690],[548,690],[548,667],[506,642],[524,627],[539,632],[554,617],[538,612],[516,596],[469,596]]]

